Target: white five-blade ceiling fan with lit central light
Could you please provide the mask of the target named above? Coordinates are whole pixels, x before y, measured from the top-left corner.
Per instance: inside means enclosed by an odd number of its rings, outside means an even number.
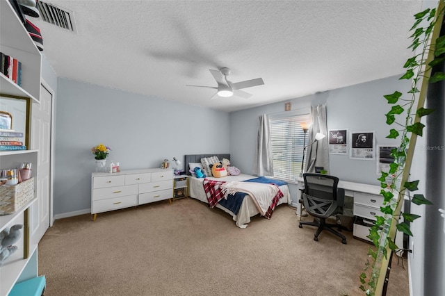
[[[227,76],[229,76],[230,72],[232,71],[229,68],[221,68],[219,71],[209,69],[209,71],[213,75],[213,78],[216,80],[216,83],[218,83],[217,87],[216,86],[204,86],[204,85],[186,85],[186,86],[195,86],[198,88],[214,88],[214,89],[218,90],[216,92],[216,94],[213,94],[213,96],[210,99],[216,99],[216,97],[218,97],[218,96],[219,97],[232,97],[233,95],[248,99],[248,98],[252,97],[252,94],[250,94],[248,92],[244,92],[243,90],[240,90],[241,88],[251,88],[252,86],[264,84],[264,81],[261,78],[250,79],[250,80],[232,83],[232,81],[227,80]]]

